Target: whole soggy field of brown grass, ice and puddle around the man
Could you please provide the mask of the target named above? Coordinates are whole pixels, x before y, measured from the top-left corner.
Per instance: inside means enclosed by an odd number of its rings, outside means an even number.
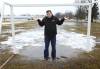
[[[62,26],[58,26],[56,62],[43,61],[44,27],[39,27],[36,21],[15,26],[14,45],[9,24],[3,26],[0,35],[0,65],[14,55],[2,69],[100,68],[100,45],[96,45],[100,38],[100,23],[92,23],[91,37],[86,36],[87,23],[65,21]]]

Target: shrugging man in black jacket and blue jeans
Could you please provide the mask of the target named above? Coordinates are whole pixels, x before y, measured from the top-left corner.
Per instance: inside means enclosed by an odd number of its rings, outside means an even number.
[[[44,59],[49,59],[49,44],[51,42],[52,52],[51,57],[52,60],[56,59],[56,34],[57,34],[57,27],[56,25],[62,25],[65,18],[59,20],[52,14],[51,10],[46,11],[47,16],[45,16],[42,21],[38,19],[38,23],[40,26],[45,26],[44,31],[44,41],[45,41],[45,49],[44,49]]]

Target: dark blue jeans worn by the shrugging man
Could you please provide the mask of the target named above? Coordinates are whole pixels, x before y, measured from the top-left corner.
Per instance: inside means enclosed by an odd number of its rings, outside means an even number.
[[[56,35],[54,35],[52,37],[45,36],[44,59],[49,58],[49,44],[50,44],[50,42],[51,42],[51,47],[52,47],[51,57],[52,57],[52,59],[56,58]]]

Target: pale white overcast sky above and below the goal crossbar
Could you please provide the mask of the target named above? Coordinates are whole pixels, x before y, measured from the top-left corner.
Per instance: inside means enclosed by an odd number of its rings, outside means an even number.
[[[3,0],[8,3],[13,4],[69,4],[74,3],[75,0]],[[100,4],[100,3],[99,3]],[[14,14],[20,15],[20,14],[45,14],[46,10],[52,10],[53,13],[56,12],[75,12],[76,7],[75,6],[63,6],[63,7],[17,7],[14,8]],[[9,14],[10,10],[9,7],[5,7],[5,14]]]

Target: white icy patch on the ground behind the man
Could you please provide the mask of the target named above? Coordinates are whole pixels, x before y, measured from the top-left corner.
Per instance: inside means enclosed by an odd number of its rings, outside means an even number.
[[[83,51],[91,51],[95,47],[95,37],[86,36],[75,32],[68,32],[64,29],[58,29],[57,46],[70,46],[71,48],[81,49]],[[14,53],[18,53],[25,46],[44,46],[44,31],[43,28],[38,28],[26,32],[22,32],[15,36],[15,41],[12,43],[12,37],[2,44],[12,45]]]

